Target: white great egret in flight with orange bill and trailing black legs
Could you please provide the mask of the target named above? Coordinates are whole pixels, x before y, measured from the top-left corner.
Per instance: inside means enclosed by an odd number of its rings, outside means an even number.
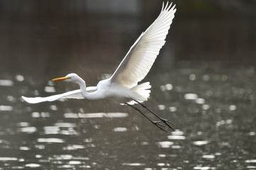
[[[172,7],[172,8],[171,8]],[[157,19],[152,23],[152,25],[145,30],[144,33],[140,35],[138,40],[135,41],[130,50],[123,58],[121,64],[119,64],[116,72],[109,79],[104,79],[99,81],[97,86],[87,87],[85,81],[79,77],[77,74],[67,74],[66,77],[61,77],[57,79],[52,79],[52,81],[67,81],[74,82],[79,85],[80,89],[74,91],[68,91],[65,94],[57,94],[48,97],[35,97],[27,98],[22,96],[22,98],[28,103],[40,103],[43,101],[55,101],[59,98],[87,98],[89,100],[98,99],[109,99],[115,103],[125,104],[132,108],[135,108],[133,104],[138,103],[143,108],[147,108],[142,102],[148,101],[150,96],[150,83],[145,82],[143,84],[138,84],[139,81],[143,80],[144,77],[150,71],[152,64],[155,62],[160,49],[165,44],[165,38],[168,33],[169,27],[174,18],[174,13],[176,8],[172,4],[165,5],[162,4],[162,10]],[[135,108],[136,111],[140,112],[150,120],[142,111]],[[174,125],[169,120],[160,118],[157,114],[154,114],[160,121],[150,120],[151,123],[156,125],[160,130],[165,130],[165,125],[172,128],[169,124]],[[165,123],[165,125],[162,125]],[[174,130],[172,128],[172,130]]]

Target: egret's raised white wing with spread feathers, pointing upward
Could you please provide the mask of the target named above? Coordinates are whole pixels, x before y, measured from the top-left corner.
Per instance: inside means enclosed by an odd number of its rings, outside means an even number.
[[[175,5],[162,5],[162,11],[152,25],[142,33],[119,64],[111,77],[111,82],[132,88],[150,71],[165,38],[176,11]]]

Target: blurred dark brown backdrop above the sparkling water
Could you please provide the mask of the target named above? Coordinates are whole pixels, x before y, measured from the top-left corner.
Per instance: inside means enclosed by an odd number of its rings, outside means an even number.
[[[177,13],[157,62],[255,65],[255,1],[174,4]],[[0,70],[56,75],[90,66],[112,73],[161,7],[162,1],[150,0],[0,1]]]

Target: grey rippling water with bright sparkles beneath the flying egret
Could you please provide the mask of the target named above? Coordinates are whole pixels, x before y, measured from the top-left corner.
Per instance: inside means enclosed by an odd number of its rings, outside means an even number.
[[[145,104],[177,124],[168,133],[109,101],[24,103],[21,94],[9,94],[22,91],[21,84],[31,86],[23,77],[1,85],[3,169],[255,169],[252,67],[218,65],[216,72],[214,63],[191,68],[181,62],[172,72],[153,73],[152,98]]]

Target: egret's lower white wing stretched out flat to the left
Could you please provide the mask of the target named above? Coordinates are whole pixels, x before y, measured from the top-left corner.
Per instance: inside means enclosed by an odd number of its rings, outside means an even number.
[[[97,87],[96,86],[89,86],[87,87],[87,92],[91,93],[93,91],[96,91]],[[44,101],[56,101],[57,99],[60,98],[76,98],[76,99],[82,99],[84,98],[81,94],[81,90],[74,90],[74,91],[68,91],[64,94],[57,94],[53,96],[48,96],[48,97],[35,97],[35,98],[27,98],[24,96],[21,96],[26,102],[28,103],[40,103]]]

